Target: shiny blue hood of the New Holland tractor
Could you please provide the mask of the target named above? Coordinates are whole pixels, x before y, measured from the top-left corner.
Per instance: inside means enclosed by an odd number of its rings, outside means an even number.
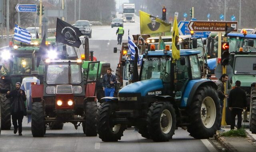
[[[140,93],[141,96],[155,95],[156,93],[154,91],[162,90],[162,89],[163,89],[163,82],[161,79],[149,79],[149,80],[135,82],[125,86],[118,92],[118,96],[119,94],[138,94],[138,93]]]

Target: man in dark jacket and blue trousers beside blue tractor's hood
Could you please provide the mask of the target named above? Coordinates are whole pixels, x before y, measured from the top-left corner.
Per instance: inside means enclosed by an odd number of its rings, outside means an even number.
[[[107,74],[104,74],[103,76],[102,86],[103,91],[105,92],[105,96],[114,97],[115,84],[117,83],[117,81],[116,76],[112,74],[111,71],[111,68],[107,69]]]

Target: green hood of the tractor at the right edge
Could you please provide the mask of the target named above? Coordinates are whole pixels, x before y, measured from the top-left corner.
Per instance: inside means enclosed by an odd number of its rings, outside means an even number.
[[[248,75],[248,76],[232,76],[232,84],[231,86],[235,86],[235,82],[239,80],[241,81],[241,86],[251,86],[252,82],[256,82],[256,76]]]

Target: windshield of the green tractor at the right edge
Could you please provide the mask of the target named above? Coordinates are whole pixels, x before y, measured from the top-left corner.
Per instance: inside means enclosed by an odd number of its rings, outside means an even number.
[[[255,67],[256,67],[255,56],[236,57],[234,61],[234,74],[256,75]]]

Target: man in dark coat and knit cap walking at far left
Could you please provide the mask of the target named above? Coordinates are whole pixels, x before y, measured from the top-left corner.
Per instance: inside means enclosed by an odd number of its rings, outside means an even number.
[[[24,101],[26,100],[26,95],[24,90],[20,89],[20,82],[16,83],[16,90],[8,91],[6,98],[11,99],[11,114],[12,114],[12,124],[14,126],[13,133],[16,134],[19,129],[19,136],[22,136],[22,119],[26,116],[26,107]],[[18,124],[17,124],[18,120]]]

